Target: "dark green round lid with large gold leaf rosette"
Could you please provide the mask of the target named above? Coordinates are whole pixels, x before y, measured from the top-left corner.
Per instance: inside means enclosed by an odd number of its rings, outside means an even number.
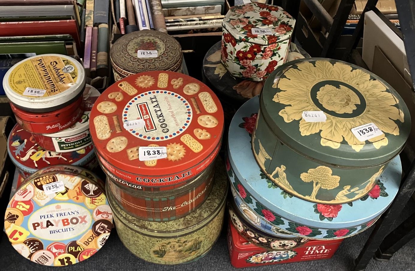
[[[408,108],[389,84],[356,65],[326,58],[278,67],[265,82],[260,108],[284,144],[340,167],[391,160],[411,129]]]

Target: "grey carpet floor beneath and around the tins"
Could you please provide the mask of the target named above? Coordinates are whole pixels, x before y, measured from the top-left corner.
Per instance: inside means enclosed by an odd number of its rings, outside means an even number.
[[[370,230],[354,237],[347,238],[340,245],[331,259],[303,261],[291,264],[256,266],[244,270],[255,271],[351,271],[353,261],[370,235]],[[395,253],[390,261],[371,260],[366,271],[415,271],[415,240]],[[212,250],[202,259],[181,266],[162,266],[149,264],[129,252],[120,242],[116,233],[112,233],[105,246],[90,259],[73,266],[59,268],[42,267],[23,259],[1,233],[0,270],[4,271],[230,271],[238,270],[229,261],[225,231]],[[239,269],[240,270],[240,269]]]

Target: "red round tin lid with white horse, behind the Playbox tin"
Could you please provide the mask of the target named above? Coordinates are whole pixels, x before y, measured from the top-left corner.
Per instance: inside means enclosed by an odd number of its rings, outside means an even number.
[[[71,164],[82,166],[95,155],[93,145],[65,153],[46,151],[37,145],[31,133],[23,130],[18,124],[13,127],[7,138],[7,151],[12,162],[27,173],[34,173],[49,165]]]

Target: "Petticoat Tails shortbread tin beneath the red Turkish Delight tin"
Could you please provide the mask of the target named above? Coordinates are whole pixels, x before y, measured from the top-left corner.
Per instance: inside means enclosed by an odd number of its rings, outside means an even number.
[[[61,132],[54,134],[33,134],[36,143],[43,149],[56,152],[71,152],[92,144],[89,134],[89,114],[100,92],[93,86],[86,85],[83,92],[81,118]]]

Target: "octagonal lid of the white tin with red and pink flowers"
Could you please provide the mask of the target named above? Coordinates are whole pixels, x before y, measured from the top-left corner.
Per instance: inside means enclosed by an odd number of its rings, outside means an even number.
[[[238,40],[268,45],[289,39],[295,19],[281,7],[252,2],[232,7],[222,25]]]

